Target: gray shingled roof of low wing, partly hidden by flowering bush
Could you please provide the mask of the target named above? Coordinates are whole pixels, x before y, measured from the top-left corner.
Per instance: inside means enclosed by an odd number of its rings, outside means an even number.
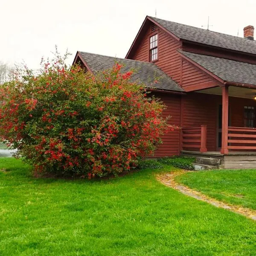
[[[147,87],[152,88],[152,82],[155,80],[155,78],[159,78],[159,81],[154,84],[153,88],[158,90],[183,92],[180,85],[166,75],[166,73],[160,70],[160,68],[154,63],[134,61],[130,59],[110,57],[88,52],[79,52],[79,54],[94,74],[103,70],[111,69],[113,65],[118,62],[119,64],[124,65],[124,67],[121,69],[121,72],[123,73],[131,69],[135,69],[134,74],[131,76],[131,81],[139,81],[145,84]]]

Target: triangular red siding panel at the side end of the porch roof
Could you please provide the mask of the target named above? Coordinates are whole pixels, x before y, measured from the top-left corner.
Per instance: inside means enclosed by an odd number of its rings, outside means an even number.
[[[204,89],[217,85],[215,79],[184,59],[182,60],[181,74],[181,86],[185,91],[195,90],[196,88]]]

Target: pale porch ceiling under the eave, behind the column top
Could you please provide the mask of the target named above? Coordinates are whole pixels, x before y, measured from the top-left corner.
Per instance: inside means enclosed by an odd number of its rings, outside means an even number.
[[[213,87],[204,90],[198,90],[197,93],[207,93],[207,94],[215,94],[215,95],[222,95],[221,87]],[[256,88],[249,89],[237,86],[230,86],[229,87],[229,96],[231,97],[239,97],[239,98],[246,98],[246,99],[253,99],[256,96]]]

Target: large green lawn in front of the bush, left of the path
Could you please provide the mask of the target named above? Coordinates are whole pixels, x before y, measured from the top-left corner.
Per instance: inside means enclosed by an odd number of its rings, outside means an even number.
[[[0,169],[1,256],[256,255],[256,222],[155,179],[172,167],[101,181],[36,179],[13,158]]]

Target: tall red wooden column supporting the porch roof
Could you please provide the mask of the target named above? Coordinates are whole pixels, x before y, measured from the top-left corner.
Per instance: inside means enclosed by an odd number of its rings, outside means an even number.
[[[228,86],[222,87],[222,137],[221,154],[228,154],[227,133],[228,133]]]

